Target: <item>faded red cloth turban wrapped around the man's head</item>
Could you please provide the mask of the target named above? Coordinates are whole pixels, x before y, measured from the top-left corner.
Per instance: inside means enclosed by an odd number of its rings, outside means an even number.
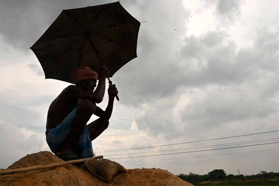
[[[84,79],[91,79],[91,78],[98,79],[98,74],[94,70],[91,70],[89,67],[84,67],[84,66],[79,67],[74,71],[73,74],[73,81],[75,83]]]

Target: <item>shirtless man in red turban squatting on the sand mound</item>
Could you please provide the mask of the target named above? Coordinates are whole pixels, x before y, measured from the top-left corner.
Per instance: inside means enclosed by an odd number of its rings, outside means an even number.
[[[51,151],[61,159],[69,161],[93,156],[91,141],[108,127],[114,97],[118,94],[116,86],[109,85],[107,108],[104,111],[96,106],[104,98],[108,74],[105,65],[100,68],[99,76],[89,67],[80,67],[74,72],[76,85],[66,87],[51,103],[46,139]],[[87,125],[92,114],[100,118]]]

